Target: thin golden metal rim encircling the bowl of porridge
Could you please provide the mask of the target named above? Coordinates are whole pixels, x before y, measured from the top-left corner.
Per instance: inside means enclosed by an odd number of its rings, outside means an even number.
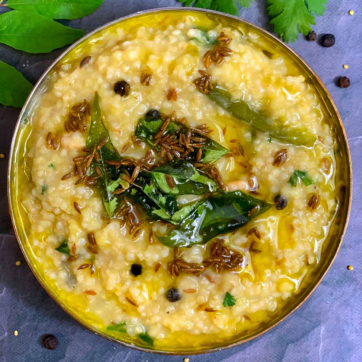
[[[130,19],[130,18],[136,18],[138,16],[142,16],[144,14],[150,14],[150,13],[159,13],[159,12],[201,12],[201,13],[206,13],[206,14],[214,14],[214,15],[219,15],[219,16],[223,16],[226,18],[231,18],[233,20],[237,20],[240,23],[246,24],[247,26],[251,27],[251,28],[255,28],[259,31],[261,31],[262,33],[264,33],[265,35],[268,35],[269,37],[271,37],[274,41],[276,41],[277,43],[281,44],[283,47],[285,47],[287,49],[287,51],[291,52],[292,55],[295,55],[303,64],[304,66],[306,66],[306,68],[308,69],[308,71],[311,73],[311,75],[317,80],[317,82],[319,83],[319,85],[321,86],[322,90],[324,91],[325,95],[328,97],[329,101],[331,102],[331,105],[333,106],[334,112],[337,115],[338,118],[338,123],[341,127],[342,130],[342,134],[343,134],[343,140],[345,142],[345,146],[346,146],[346,151],[347,151],[347,157],[348,157],[348,170],[349,170],[349,180],[350,183],[349,185],[347,185],[348,191],[349,191],[349,200],[348,200],[348,210],[346,213],[346,219],[345,219],[345,224],[342,230],[342,233],[339,235],[339,243],[338,243],[338,247],[336,249],[336,253],[334,254],[334,256],[332,257],[330,263],[328,264],[328,266],[326,267],[324,273],[321,275],[320,279],[317,281],[317,283],[315,284],[315,286],[313,286],[312,290],[305,296],[305,298],[303,298],[303,300],[298,303],[298,305],[293,308],[289,313],[287,313],[285,316],[283,316],[282,318],[280,318],[279,320],[277,320],[273,325],[271,325],[270,327],[264,329],[263,331],[245,338],[243,340],[237,341],[237,342],[233,342],[231,344],[222,346],[222,347],[218,347],[218,348],[208,348],[205,350],[198,350],[198,351],[180,351],[180,352],[171,352],[171,351],[165,351],[165,350],[155,350],[155,349],[149,349],[149,348],[143,348],[140,346],[135,346],[120,340],[117,340],[115,338],[112,338],[110,336],[107,336],[106,334],[97,331],[95,328],[93,328],[91,325],[87,325],[86,323],[84,323],[77,315],[76,313],[72,312],[72,311],[68,311],[66,309],[65,306],[62,305],[62,303],[58,300],[58,298],[56,298],[56,296],[53,294],[52,290],[50,288],[48,288],[42,281],[41,277],[38,275],[38,273],[36,272],[35,268],[33,267],[33,265],[31,264],[27,253],[25,252],[25,249],[22,245],[22,241],[20,240],[20,236],[18,234],[17,231],[17,225],[15,222],[15,218],[14,218],[14,214],[13,214],[13,207],[12,207],[12,201],[11,201],[11,197],[10,197],[10,171],[11,171],[11,161],[13,159],[13,153],[14,153],[14,148],[16,146],[16,135],[18,133],[18,130],[20,128],[20,124],[21,124],[21,119],[24,117],[24,114],[26,113],[26,110],[29,108],[29,106],[31,106],[31,97],[33,96],[33,94],[35,93],[36,89],[38,88],[39,84],[42,83],[43,79],[49,75],[49,73],[51,72],[51,70],[56,66],[56,64],[59,62],[60,59],[62,59],[67,53],[71,52],[76,46],[78,46],[81,42],[85,41],[86,39],[92,37],[95,33],[97,33],[100,30],[104,30],[112,25],[117,24],[120,21],[126,20],[126,19]],[[244,344],[246,342],[249,342],[251,340],[253,340],[254,338],[257,338],[259,336],[261,336],[262,334],[270,331],[271,329],[273,329],[274,327],[276,327],[279,323],[281,323],[283,320],[285,320],[287,317],[289,317],[294,311],[296,311],[300,306],[302,306],[302,304],[310,297],[310,295],[313,293],[313,291],[315,291],[315,289],[317,288],[317,286],[319,285],[319,283],[323,280],[323,278],[325,277],[325,274],[327,274],[329,268],[331,267],[333,261],[335,260],[338,251],[341,247],[342,244],[342,240],[343,237],[345,235],[346,232],[346,228],[348,225],[348,221],[349,221],[349,216],[350,216],[350,209],[351,209],[351,202],[352,202],[352,161],[351,161],[351,154],[350,154],[350,148],[349,148],[349,143],[348,143],[348,138],[346,135],[346,131],[345,131],[345,127],[344,124],[342,122],[342,118],[337,110],[337,107],[333,101],[333,98],[331,96],[331,94],[328,92],[327,88],[325,87],[325,85],[323,84],[323,82],[320,80],[319,76],[317,76],[317,74],[313,71],[313,69],[311,68],[311,66],[293,49],[291,49],[291,47],[289,47],[286,43],[284,43],[281,39],[279,39],[278,37],[276,37],[274,34],[270,33],[268,30],[265,30],[263,28],[261,28],[260,26],[253,24],[252,22],[246,21],[244,19],[241,19],[237,16],[233,16],[230,14],[226,14],[226,13],[222,13],[219,11],[215,11],[215,10],[209,10],[209,9],[199,9],[199,8],[190,8],[190,7],[169,7],[169,8],[156,8],[156,9],[149,9],[149,10],[144,10],[144,11],[140,11],[140,12],[136,12],[136,13],[132,13],[130,15],[126,15],[123,16],[121,18],[118,18],[116,20],[110,21],[102,26],[99,26],[98,28],[92,30],[90,33],[85,34],[84,37],[80,38],[78,41],[76,41],[75,43],[73,43],[70,47],[68,47],[66,50],[64,50],[62,52],[62,54],[60,54],[55,60],[54,62],[52,62],[50,64],[50,66],[46,69],[46,71],[42,74],[42,76],[38,79],[37,83],[35,83],[33,89],[31,90],[28,98],[26,99],[24,106],[21,109],[21,112],[19,114],[18,120],[16,122],[15,128],[14,128],[14,132],[13,132],[13,137],[12,137],[12,142],[10,145],[10,152],[9,152],[9,160],[8,160],[8,174],[7,174],[7,190],[8,190],[8,202],[9,202],[9,213],[10,213],[10,217],[12,220],[12,224],[13,224],[13,228],[14,228],[14,232],[18,241],[18,244],[20,246],[20,249],[24,255],[24,258],[26,260],[26,262],[28,263],[31,271],[33,272],[33,274],[35,275],[35,277],[37,278],[38,282],[41,284],[41,286],[46,290],[46,292],[51,296],[51,298],[68,314],[70,315],[73,319],[75,319],[77,322],[79,322],[81,325],[83,325],[85,328],[89,329],[90,331],[94,332],[95,334],[98,334],[104,338],[106,338],[107,340],[110,340],[112,342],[116,342],[122,346],[125,347],[129,347],[135,350],[139,350],[142,352],[149,352],[149,353],[153,353],[153,354],[163,354],[163,355],[197,355],[197,354],[205,354],[205,353],[211,353],[211,352],[218,352],[224,349],[228,349],[231,347],[235,347],[241,344]]]

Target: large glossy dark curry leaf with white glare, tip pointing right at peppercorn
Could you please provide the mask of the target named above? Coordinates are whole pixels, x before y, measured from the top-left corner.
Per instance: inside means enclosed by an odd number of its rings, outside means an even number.
[[[216,194],[197,202],[176,228],[158,239],[172,248],[205,244],[221,233],[244,226],[271,206],[241,191]]]

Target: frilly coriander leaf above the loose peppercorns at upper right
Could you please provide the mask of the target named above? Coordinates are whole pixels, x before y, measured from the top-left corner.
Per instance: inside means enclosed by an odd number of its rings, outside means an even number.
[[[323,15],[327,0],[268,0],[268,4],[274,32],[284,41],[294,42],[298,31],[304,35],[311,31],[311,25],[315,25],[312,14]]]

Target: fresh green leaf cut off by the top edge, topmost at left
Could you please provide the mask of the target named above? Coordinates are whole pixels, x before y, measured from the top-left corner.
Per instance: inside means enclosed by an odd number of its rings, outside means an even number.
[[[78,19],[93,13],[103,0],[8,0],[7,7],[34,11],[52,19]]]

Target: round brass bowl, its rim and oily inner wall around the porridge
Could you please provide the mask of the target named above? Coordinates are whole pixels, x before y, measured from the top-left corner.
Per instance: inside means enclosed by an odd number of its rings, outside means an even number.
[[[24,170],[25,163],[25,144],[26,140],[29,137],[31,126],[29,118],[37,105],[37,99],[41,95],[44,89],[46,89],[51,75],[56,71],[58,66],[62,64],[67,59],[72,59],[84,48],[88,41],[99,36],[103,31],[109,30],[113,26],[117,26],[120,23],[126,21],[139,21],[143,23],[147,22],[147,19],[162,14],[167,18],[167,16],[177,15],[197,15],[205,16],[206,18],[219,21],[222,20],[223,23],[230,24],[233,27],[239,29],[244,29],[246,31],[252,31],[254,34],[257,34],[258,44],[262,43],[262,49],[265,51],[270,50],[271,52],[281,54],[289,63],[292,63],[293,66],[298,69],[298,72],[302,74],[305,79],[310,83],[317,93],[319,100],[321,102],[321,107],[325,115],[328,115],[330,119],[330,124],[332,125],[334,136],[336,138],[336,193],[339,199],[339,205],[336,215],[333,219],[333,227],[330,229],[327,239],[323,244],[323,257],[321,258],[319,264],[308,271],[310,273],[310,283],[303,285],[302,289],[298,291],[297,294],[293,295],[289,301],[277,312],[271,314],[268,320],[265,320],[264,323],[258,324],[250,328],[247,332],[244,332],[242,335],[232,336],[229,340],[224,340],[220,343],[215,343],[213,346],[202,345],[196,349],[190,349],[187,345],[184,349],[174,350],[171,348],[150,348],[145,347],[141,344],[136,344],[137,342],[132,341],[130,338],[117,339],[115,336],[111,336],[109,333],[102,331],[97,327],[97,323],[94,323],[93,320],[87,319],[84,315],[81,315],[79,311],[74,309],[74,306],[71,306],[68,303],[67,298],[61,295],[59,290],[56,289],[54,282],[50,282],[42,273],[41,265],[38,265],[34,253],[32,252],[31,245],[28,242],[27,230],[29,230],[30,222],[22,209],[20,204],[20,194],[22,185],[27,181]],[[25,178],[24,178],[25,177]],[[269,331],[275,325],[283,321],[287,316],[289,316],[293,311],[295,311],[304,301],[311,295],[315,290],[317,285],[323,279],[324,275],[327,273],[329,267],[331,266],[338,249],[340,248],[342,238],[344,236],[346,226],[348,223],[350,204],[352,197],[352,167],[350,159],[350,151],[348,146],[348,141],[345,133],[345,129],[341,120],[341,117],[337,111],[336,105],[334,104],[331,95],[328,93],[327,89],[316,75],[313,72],[312,68],[300,58],[296,52],[294,52],[290,47],[285,45],[281,40],[276,38],[274,35],[268,33],[264,29],[259,28],[258,26],[251,24],[247,21],[240,20],[239,18],[231,15],[226,15],[211,10],[203,9],[191,9],[191,8],[163,8],[156,10],[148,10],[130,16],[126,16],[110,22],[91,33],[87,34],[85,37],[74,43],[70,48],[68,48],[62,55],[60,55],[54,63],[46,70],[46,72],[38,80],[37,84],[34,86],[31,91],[25,105],[20,113],[18,118],[14,135],[11,144],[10,157],[9,157],[9,167],[8,167],[8,199],[9,199],[9,208],[10,214],[12,217],[12,222],[14,230],[20,245],[20,248],[24,254],[26,261],[28,262],[30,269],[33,271],[35,277],[41,283],[43,288],[49,293],[49,295],[59,304],[68,314],[70,314],[75,320],[83,324],[85,327],[90,329],[96,334],[118,342],[127,347],[134,349],[142,350],[145,352],[152,353],[161,353],[161,354],[198,354],[213,352],[222,349],[226,349],[232,346],[242,344],[244,342],[250,341],[255,337],[260,336],[261,334]],[[187,343],[185,343],[187,344]]]

